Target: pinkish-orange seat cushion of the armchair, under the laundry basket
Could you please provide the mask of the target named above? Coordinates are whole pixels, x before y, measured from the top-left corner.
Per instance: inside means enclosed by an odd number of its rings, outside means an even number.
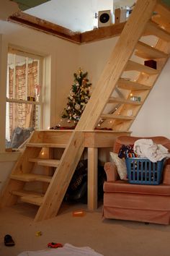
[[[170,185],[140,185],[125,181],[104,182],[104,192],[120,192],[146,195],[170,195]]]

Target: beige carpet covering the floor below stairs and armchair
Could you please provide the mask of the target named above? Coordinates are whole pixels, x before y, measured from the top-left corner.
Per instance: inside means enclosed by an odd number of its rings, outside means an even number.
[[[73,210],[84,209],[84,217]],[[46,249],[48,242],[88,246],[105,256],[169,256],[170,226],[133,221],[103,220],[102,206],[91,213],[86,205],[62,205],[56,218],[35,223],[36,206],[21,204],[0,210],[0,256]],[[36,236],[37,231],[42,236]],[[4,246],[12,235],[14,247]]]

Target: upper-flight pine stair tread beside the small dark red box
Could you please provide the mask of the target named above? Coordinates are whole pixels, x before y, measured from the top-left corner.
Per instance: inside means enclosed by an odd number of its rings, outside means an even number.
[[[152,69],[151,67],[147,67],[135,61],[128,61],[128,64],[125,67],[125,71],[130,71],[130,70],[136,70],[138,72],[143,72],[146,74],[158,74],[158,69]]]

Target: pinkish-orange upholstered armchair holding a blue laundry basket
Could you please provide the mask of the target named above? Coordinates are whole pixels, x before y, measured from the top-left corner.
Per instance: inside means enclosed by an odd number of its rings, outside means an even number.
[[[122,145],[132,145],[141,137],[117,137],[113,152]],[[170,150],[166,137],[148,137],[156,144]],[[103,217],[147,223],[169,224],[170,221],[170,161],[164,166],[163,179],[159,185],[130,184],[120,180],[114,163],[105,163],[107,181],[104,182]]]

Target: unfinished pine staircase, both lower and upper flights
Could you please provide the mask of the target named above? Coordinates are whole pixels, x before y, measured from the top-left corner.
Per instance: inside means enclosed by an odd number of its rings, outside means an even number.
[[[45,131],[35,131],[32,134],[9,177],[1,197],[1,206],[13,205],[19,198],[23,202],[39,206],[35,221],[57,215],[86,146],[85,133],[94,131],[97,124],[100,127],[110,127],[117,134],[129,132],[169,58],[169,22],[170,10],[161,1],[138,0],[76,129],[60,135],[58,132]],[[157,38],[155,46],[144,43],[146,35]],[[147,67],[144,65],[145,60],[156,61],[157,68]],[[135,72],[135,77],[130,78],[129,72]],[[123,98],[115,95],[116,90],[121,90]],[[134,96],[140,98],[140,101],[132,101]],[[110,111],[107,113],[109,104],[118,106],[112,114]],[[45,148],[48,148],[48,156],[42,158]],[[63,148],[61,159],[53,158],[50,150],[52,148]],[[35,166],[46,166],[48,171],[43,175],[35,174]],[[44,193],[24,189],[27,182],[46,184]]]

